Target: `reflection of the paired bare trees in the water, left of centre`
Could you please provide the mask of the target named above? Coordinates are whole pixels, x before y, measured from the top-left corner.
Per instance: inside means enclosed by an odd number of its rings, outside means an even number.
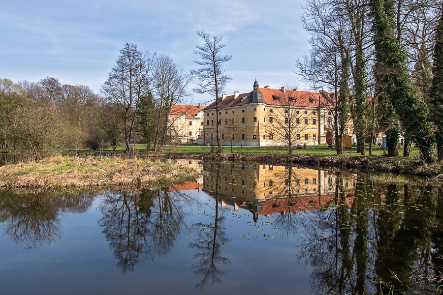
[[[167,189],[106,195],[99,224],[123,272],[169,252],[183,224],[182,202],[176,196],[180,194]]]

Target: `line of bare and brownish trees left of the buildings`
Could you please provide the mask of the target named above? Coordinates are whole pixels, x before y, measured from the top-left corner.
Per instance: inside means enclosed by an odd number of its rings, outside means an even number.
[[[41,159],[63,148],[114,149],[169,143],[172,106],[189,95],[190,74],[168,55],[126,43],[100,94],[57,78],[14,83],[0,79],[1,148]]]

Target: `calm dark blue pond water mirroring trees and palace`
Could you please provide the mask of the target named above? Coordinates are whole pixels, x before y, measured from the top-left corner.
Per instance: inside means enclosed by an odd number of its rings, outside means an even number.
[[[184,160],[161,190],[0,191],[0,294],[432,294],[443,189]]]

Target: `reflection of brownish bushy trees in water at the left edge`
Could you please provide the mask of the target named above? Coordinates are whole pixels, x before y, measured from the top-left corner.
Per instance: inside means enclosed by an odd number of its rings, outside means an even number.
[[[83,212],[94,197],[87,192],[23,192],[2,190],[0,221],[4,234],[28,248],[50,244],[61,237],[60,213]]]

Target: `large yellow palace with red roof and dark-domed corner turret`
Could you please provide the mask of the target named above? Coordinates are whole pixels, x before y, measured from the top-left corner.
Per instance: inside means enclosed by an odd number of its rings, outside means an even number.
[[[333,140],[333,116],[324,104],[328,99],[326,92],[259,88],[255,80],[251,92],[223,94],[218,112],[215,102],[203,110],[203,142],[216,145],[218,120],[222,145],[280,146],[289,138],[295,145],[326,143],[328,137]],[[345,133],[355,141],[351,123]]]

